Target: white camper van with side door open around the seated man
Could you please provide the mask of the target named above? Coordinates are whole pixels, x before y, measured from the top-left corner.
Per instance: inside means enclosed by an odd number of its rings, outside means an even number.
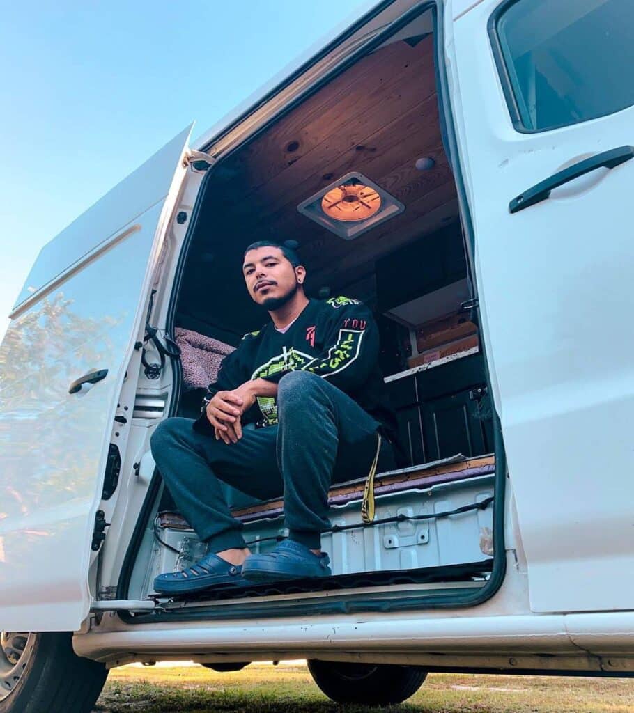
[[[629,0],[382,1],[44,247],[0,352],[0,712],[88,712],[133,661],[305,657],[376,703],[634,675],[633,28]],[[263,235],[372,307],[406,462],[372,523],[332,488],[332,578],[159,596],[204,545],[150,436],[262,323]],[[280,501],[227,497],[283,537]]]

